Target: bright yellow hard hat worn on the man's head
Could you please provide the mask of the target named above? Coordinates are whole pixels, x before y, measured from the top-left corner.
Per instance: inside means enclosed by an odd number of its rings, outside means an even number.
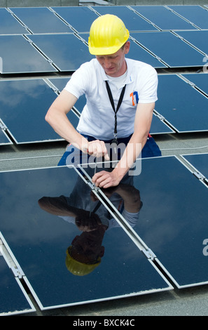
[[[88,39],[92,55],[110,55],[116,53],[129,39],[130,32],[116,15],[99,16],[90,27]]]

